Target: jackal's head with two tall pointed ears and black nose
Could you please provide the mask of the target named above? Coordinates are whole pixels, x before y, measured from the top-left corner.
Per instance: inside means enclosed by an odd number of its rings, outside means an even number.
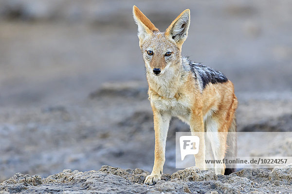
[[[135,5],[133,16],[138,25],[139,46],[146,73],[150,76],[174,74],[180,68],[182,45],[190,25],[190,10],[184,10],[165,32],[160,32]]]

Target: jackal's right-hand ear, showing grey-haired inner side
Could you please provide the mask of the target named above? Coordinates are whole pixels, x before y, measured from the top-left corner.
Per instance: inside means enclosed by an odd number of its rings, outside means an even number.
[[[191,13],[189,9],[184,10],[170,26],[166,29],[165,35],[173,39],[179,47],[187,37],[187,31],[190,26]]]

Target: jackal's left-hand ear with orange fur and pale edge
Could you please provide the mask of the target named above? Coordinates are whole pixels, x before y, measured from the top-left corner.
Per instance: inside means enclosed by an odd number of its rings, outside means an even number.
[[[133,7],[133,16],[136,24],[138,25],[139,44],[141,46],[141,43],[147,35],[152,34],[154,31],[159,32],[159,30],[135,5]]]

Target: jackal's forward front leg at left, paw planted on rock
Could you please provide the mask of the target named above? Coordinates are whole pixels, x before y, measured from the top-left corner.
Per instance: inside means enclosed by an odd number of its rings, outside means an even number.
[[[161,179],[163,165],[165,162],[166,136],[171,118],[169,114],[156,112],[154,108],[153,114],[155,130],[155,153],[152,173],[145,179],[145,183],[148,185],[154,185],[158,180]]]

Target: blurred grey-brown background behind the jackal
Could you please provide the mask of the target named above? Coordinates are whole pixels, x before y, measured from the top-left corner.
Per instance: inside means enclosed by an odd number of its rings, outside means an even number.
[[[239,131],[292,130],[292,1],[0,0],[0,181],[104,164],[151,171],[134,4],[161,31],[191,10],[183,55],[233,81]],[[164,173],[176,171],[175,132],[188,130],[172,120]]]

